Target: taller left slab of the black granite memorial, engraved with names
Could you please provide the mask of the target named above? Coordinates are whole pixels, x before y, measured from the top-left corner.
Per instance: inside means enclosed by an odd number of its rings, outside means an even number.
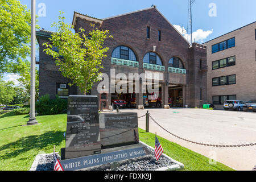
[[[101,142],[97,96],[69,96],[66,147],[65,152],[61,152],[61,159],[99,153]]]

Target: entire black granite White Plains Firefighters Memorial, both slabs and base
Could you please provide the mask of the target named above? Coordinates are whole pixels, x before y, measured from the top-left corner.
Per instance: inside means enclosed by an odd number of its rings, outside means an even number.
[[[106,166],[148,157],[139,143],[137,113],[98,114],[97,96],[69,96],[66,148],[61,149],[65,171]]]

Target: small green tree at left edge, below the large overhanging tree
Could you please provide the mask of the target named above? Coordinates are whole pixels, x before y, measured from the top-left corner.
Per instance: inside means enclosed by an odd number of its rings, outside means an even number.
[[[13,98],[16,96],[14,89],[14,82],[8,81],[5,82],[0,78],[0,104],[8,105],[13,101]]]

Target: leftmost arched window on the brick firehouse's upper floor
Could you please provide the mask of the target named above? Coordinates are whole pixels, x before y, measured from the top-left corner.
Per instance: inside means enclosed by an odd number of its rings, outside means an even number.
[[[118,46],[117,48],[115,48],[114,51],[112,52],[112,57],[131,60],[131,61],[137,61],[137,58],[133,50],[131,50],[129,47],[126,47],[126,46]]]

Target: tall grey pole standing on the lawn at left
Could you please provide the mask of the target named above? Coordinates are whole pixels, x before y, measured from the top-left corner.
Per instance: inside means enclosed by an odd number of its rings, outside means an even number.
[[[27,125],[38,125],[38,121],[35,118],[35,34],[36,0],[31,0],[30,119]]]

